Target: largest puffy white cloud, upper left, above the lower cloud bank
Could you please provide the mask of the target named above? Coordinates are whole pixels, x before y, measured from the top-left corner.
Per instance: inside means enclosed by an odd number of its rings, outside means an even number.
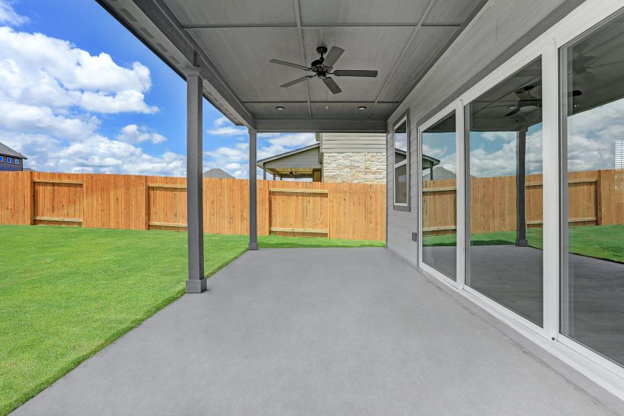
[[[1,0],[0,0],[1,1]],[[0,100],[88,112],[153,113],[145,93],[150,70],[125,68],[110,55],[91,55],[41,33],[0,27]]]

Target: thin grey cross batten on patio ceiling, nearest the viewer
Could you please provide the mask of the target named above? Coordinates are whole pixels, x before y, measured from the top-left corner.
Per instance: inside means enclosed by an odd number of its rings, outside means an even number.
[[[296,6],[295,6],[296,7]],[[295,8],[295,10],[298,10]],[[297,20],[300,21],[300,14],[297,13]],[[431,27],[431,28],[458,28],[460,23],[323,23],[323,24],[189,24],[183,26],[184,29],[227,29],[227,28],[302,28],[320,29],[320,28],[414,28],[414,27]]]

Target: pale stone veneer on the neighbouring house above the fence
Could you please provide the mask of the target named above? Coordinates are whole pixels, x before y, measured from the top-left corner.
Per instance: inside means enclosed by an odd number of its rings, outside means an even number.
[[[385,184],[385,152],[324,153],[323,182]]]

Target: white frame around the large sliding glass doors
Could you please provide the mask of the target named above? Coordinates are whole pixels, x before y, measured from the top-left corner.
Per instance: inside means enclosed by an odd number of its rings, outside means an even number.
[[[559,74],[559,52],[560,48],[576,37],[586,33],[594,26],[608,19],[623,8],[621,0],[587,0],[578,8],[570,12],[557,24],[553,25],[536,40],[528,44],[516,55],[510,58],[500,67],[494,69],[485,76],[474,87],[471,87],[461,94],[453,104],[436,114],[419,128],[422,130],[431,126],[440,119],[443,114],[448,114],[453,106],[456,108],[458,123],[456,125],[458,139],[458,275],[457,281],[444,277],[437,270],[429,268],[422,263],[422,243],[419,244],[419,266],[426,275],[439,280],[460,295],[466,297],[471,302],[499,318],[513,329],[519,331],[537,345],[546,349],[557,358],[582,372],[592,381],[598,383],[603,388],[609,390],[620,399],[624,399],[624,367],[610,361],[608,358],[593,352],[580,343],[564,336],[559,331],[560,320],[560,276],[562,265],[560,263],[560,235],[562,229],[562,218],[560,218],[560,207],[563,201],[560,199],[560,173],[561,150],[560,141],[560,74]],[[474,291],[465,285],[465,252],[467,244],[467,233],[465,218],[467,214],[467,199],[469,194],[465,193],[466,187],[466,166],[465,166],[465,105],[474,101],[478,96],[487,92],[501,81],[511,76],[514,72],[524,67],[541,56],[542,64],[542,128],[543,128],[543,151],[544,161],[544,327],[538,327],[533,322],[526,320],[511,309],[498,304],[485,295]],[[409,97],[409,96],[408,96]],[[565,98],[565,97],[563,97]],[[452,110],[451,110],[452,111]],[[401,121],[399,121],[401,123]],[[395,124],[397,125],[397,124]],[[393,132],[395,125],[392,125]],[[394,151],[394,141],[392,142]],[[557,163],[552,163],[557,161]],[[420,163],[420,162],[418,162]],[[393,172],[394,174],[394,172]],[[461,182],[461,183],[460,183]],[[460,195],[460,191],[462,195]],[[422,192],[419,192],[422,200]],[[393,201],[394,202],[394,201]],[[422,204],[419,204],[422,205]],[[422,207],[419,209],[419,234],[422,236]],[[460,230],[464,235],[460,236]],[[422,240],[422,239],[421,239]],[[460,267],[462,270],[460,270]]]

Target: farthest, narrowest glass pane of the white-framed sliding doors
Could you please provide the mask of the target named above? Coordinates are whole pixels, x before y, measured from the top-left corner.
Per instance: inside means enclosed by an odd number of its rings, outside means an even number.
[[[422,132],[422,261],[456,280],[455,112]]]

